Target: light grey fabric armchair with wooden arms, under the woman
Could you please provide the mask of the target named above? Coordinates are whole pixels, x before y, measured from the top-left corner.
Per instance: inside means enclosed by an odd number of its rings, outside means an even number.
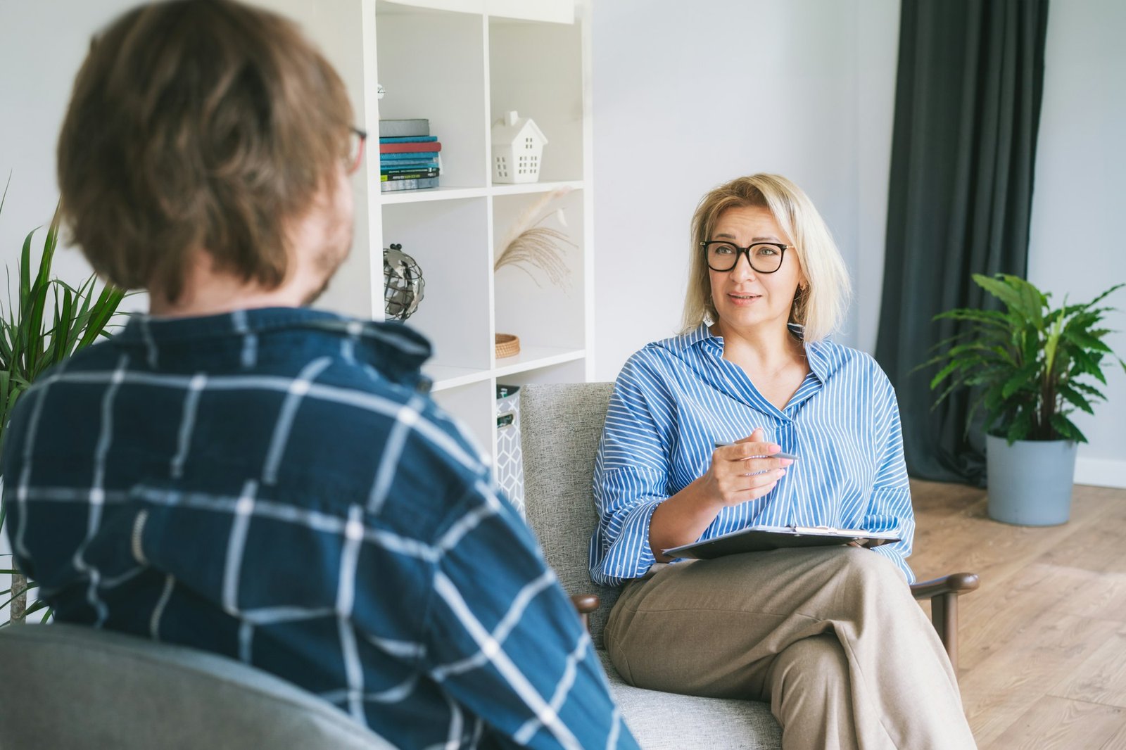
[[[595,454],[611,391],[610,383],[527,385],[522,390],[525,505],[547,563],[579,610],[589,614],[591,637],[614,695],[643,748],[780,748],[781,731],[767,704],[631,687],[606,657],[602,626],[618,591],[591,582],[587,551],[598,523],[591,495]],[[911,587],[917,599],[931,600],[935,627],[955,666],[957,596],[975,588],[977,577],[969,573]]]

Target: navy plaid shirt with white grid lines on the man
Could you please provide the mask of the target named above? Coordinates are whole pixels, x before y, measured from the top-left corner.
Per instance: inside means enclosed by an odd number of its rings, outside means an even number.
[[[17,561],[59,620],[240,659],[403,748],[635,748],[429,351],[311,310],[132,318],[15,410]]]

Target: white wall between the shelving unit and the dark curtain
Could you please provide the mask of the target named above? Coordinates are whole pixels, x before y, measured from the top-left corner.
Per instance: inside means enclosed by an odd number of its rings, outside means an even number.
[[[595,5],[596,377],[676,332],[696,202],[757,171],[824,215],[858,300],[839,340],[872,348],[897,38],[897,0]]]

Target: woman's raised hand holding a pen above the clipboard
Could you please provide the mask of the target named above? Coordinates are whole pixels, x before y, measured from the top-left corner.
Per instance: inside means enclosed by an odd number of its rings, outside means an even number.
[[[780,445],[766,441],[766,431],[760,427],[750,437],[712,453],[712,465],[700,477],[700,489],[718,506],[757,500],[775,489],[786,475],[786,466],[794,463],[792,458],[770,457],[779,450]]]

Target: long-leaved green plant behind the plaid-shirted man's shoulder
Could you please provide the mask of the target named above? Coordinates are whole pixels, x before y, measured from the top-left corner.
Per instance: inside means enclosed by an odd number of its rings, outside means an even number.
[[[0,211],[7,195],[6,186],[0,197]],[[52,278],[59,222],[56,211],[34,277],[32,236],[35,230],[28,233],[16,271],[19,288],[15,296],[9,289],[7,309],[0,305],[0,447],[3,446],[11,410],[24,391],[48,367],[93,343],[99,336],[107,336],[106,328],[125,296],[124,291],[108,285],[99,291],[93,275],[78,288]],[[2,488],[3,476],[0,476],[0,490]],[[3,532],[6,511],[0,494],[0,533]],[[45,602],[34,600],[27,605],[27,592],[34,591],[37,584],[26,580],[11,564],[10,554],[0,555],[0,574],[11,577],[8,589],[0,590],[0,610],[8,607],[8,618],[0,620],[0,627],[38,611],[43,611],[42,617],[46,619],[48,610]]]

